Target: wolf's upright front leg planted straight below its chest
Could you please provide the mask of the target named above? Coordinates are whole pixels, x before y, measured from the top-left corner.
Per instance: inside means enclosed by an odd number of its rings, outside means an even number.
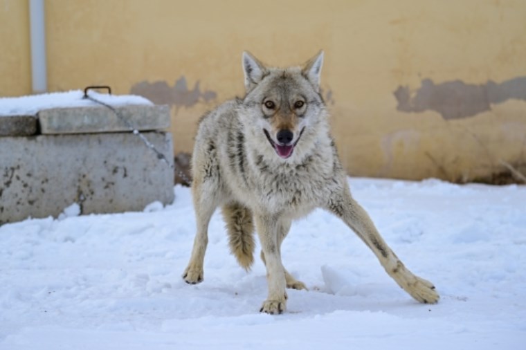
[[[279,220],[275,215],[255,215],[256,230],[265,257],[266,280],[269,286],[269,295],[260,311],[270,314],[282,313],[287,304],[287,292],[285,291],[287,284],[278,242]]]

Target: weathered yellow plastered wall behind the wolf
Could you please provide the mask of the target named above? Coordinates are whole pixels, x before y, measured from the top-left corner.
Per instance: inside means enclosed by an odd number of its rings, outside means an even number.
[[[1,95],[30,93],[26,12],[26,1],[0,0]],[[526,169],[526,101],[446,119],[397,110],[394,91],[414,98],[429,79],[458,81],[462,95],[526,77],[525,19],[523,0],[47,0],[48,89],[110,84],[163,100],[179,82],[172,132],[175,150],[190,151],[199,116],[243,94],[242,50],[287,66],[323,48],[322,86],[351,174],[471,180],[504,169],[501,160]],[[526,91],[516,82],[512,93]]]

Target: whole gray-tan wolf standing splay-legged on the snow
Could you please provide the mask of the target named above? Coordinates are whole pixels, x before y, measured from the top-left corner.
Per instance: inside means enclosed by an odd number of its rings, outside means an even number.
[[[230,250],[246,270],[254,261],[254,231],[260,239],[268,284],[260,312],[283,313],[286,288],[307,287],[284,268],[281,244],[293,220],[323,208],[360,237],[404,291],[435,304],[435,286],[403,265],[352,198],[320,93],[322,65],[323,51],[289,68],[243,53],[244,98],[224,102],[199,122],[192,154],[197,232],[183,279],[203,281],[208,223],[221,207]]]

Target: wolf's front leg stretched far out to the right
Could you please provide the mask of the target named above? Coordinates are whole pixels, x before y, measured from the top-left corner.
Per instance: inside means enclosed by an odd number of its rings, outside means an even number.
[[[436,304],[439,295],[432,283],[410,272],[389,248],[374,227],[369,215],[359,203],[352,199],[347,183],[341,191],[333,193],[327,202],[327,209],[340,217],[365,244],[374,252],[388,275],[415,300]]]

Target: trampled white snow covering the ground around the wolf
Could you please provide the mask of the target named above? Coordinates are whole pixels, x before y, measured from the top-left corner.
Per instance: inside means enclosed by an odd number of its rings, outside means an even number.
[[[284,266],[309,291],[260,314],[266,277],[228,253],[210,222],[205,281],[183,272],[190,190],[144,212],[27,219],[0,227],[0,349],[523,349],[526,187],[350,178],[354,197],[439,304],[418,304],[336,217],[293,224]]]

